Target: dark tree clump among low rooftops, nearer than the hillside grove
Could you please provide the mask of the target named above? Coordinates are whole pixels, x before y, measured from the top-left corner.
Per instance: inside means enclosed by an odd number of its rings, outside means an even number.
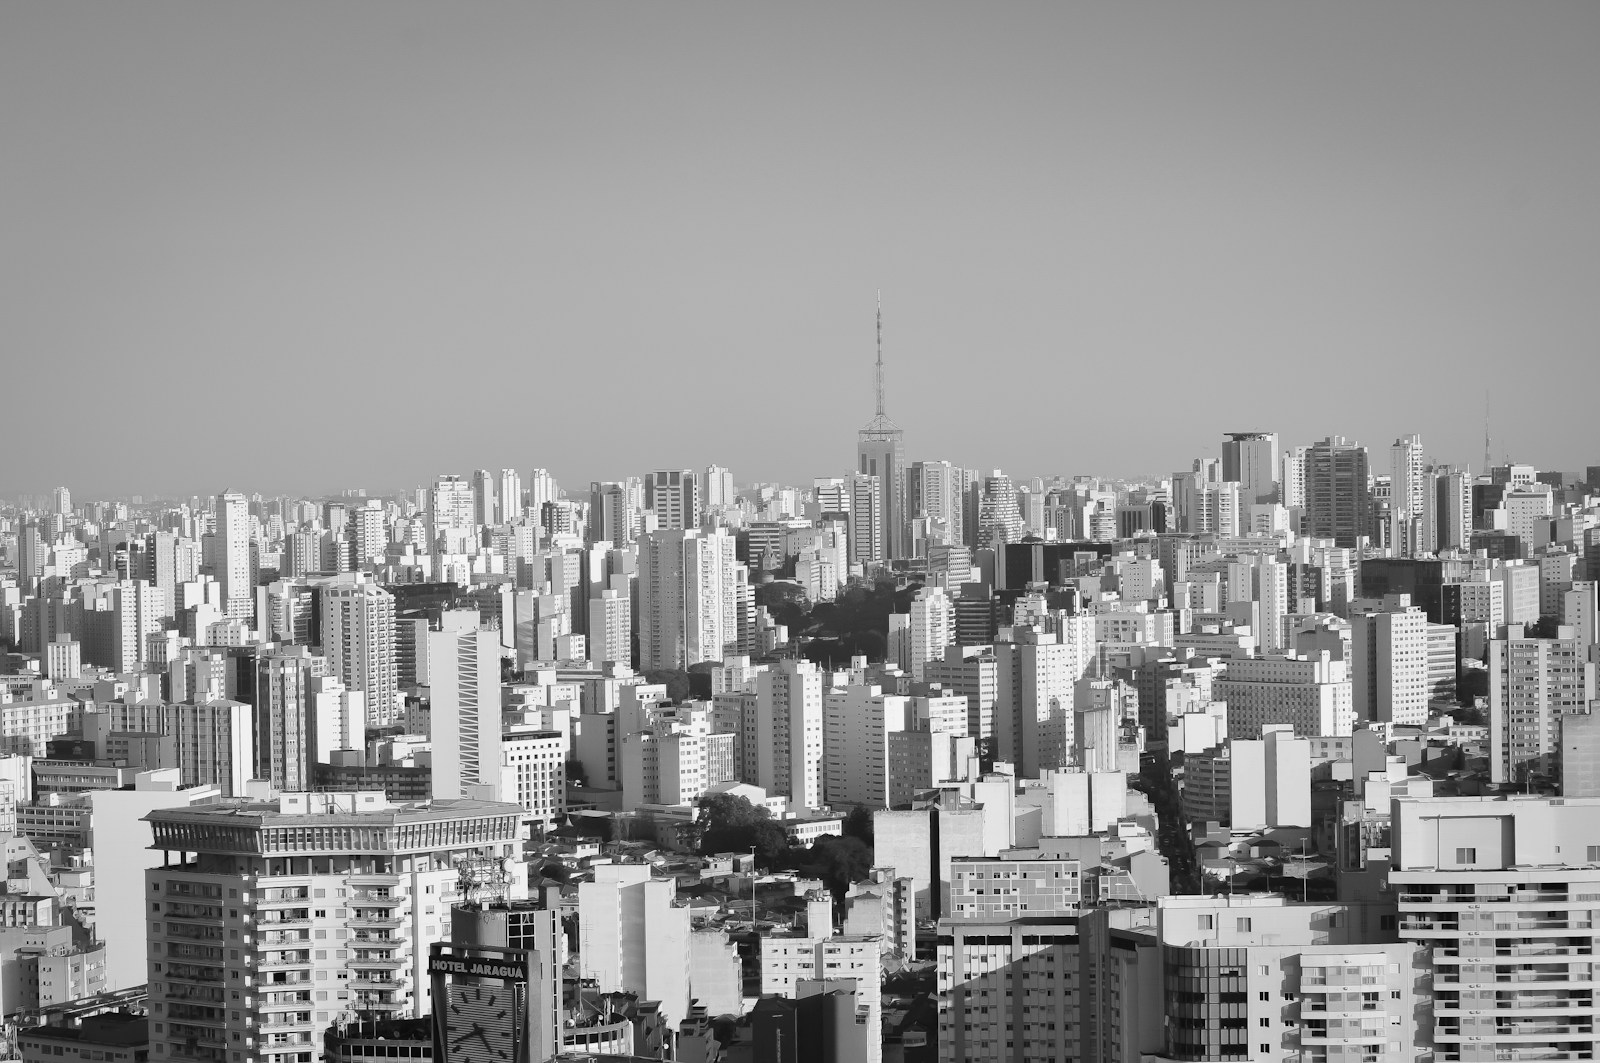
[[[842,836],[826,834],[795,847],[765,807],[738,794],[707,794],[699,800],[693,831],[694,850],[702,856],[754,850],[758,868],[821,879],[835,898],[872,869],[872,813],[866,808],[845,818]]]

